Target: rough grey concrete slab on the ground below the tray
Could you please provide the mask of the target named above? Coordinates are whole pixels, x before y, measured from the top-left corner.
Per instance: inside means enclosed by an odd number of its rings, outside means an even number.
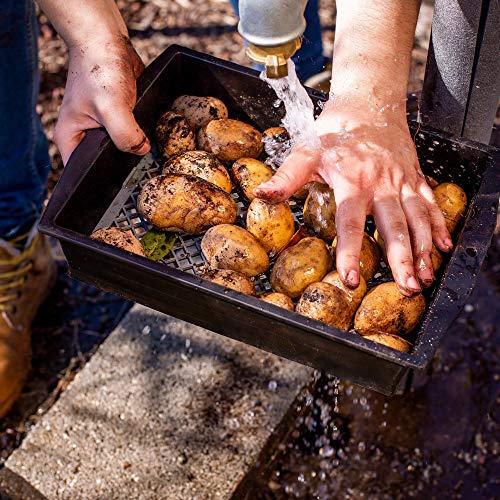
[[[135,306],[6,467],[48,498],[228,498],[309,373]]]

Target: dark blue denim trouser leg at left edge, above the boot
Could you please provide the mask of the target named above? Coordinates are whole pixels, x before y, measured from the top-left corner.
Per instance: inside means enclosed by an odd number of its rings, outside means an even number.
[[[0,238],[40,214],[50,168],[36,102],[37,25],[32,0],[0,2]]]

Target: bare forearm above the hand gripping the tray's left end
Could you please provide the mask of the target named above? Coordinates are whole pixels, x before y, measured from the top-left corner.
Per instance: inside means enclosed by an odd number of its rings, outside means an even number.
[[[38,0],[71,49],[127,38],[127,28],[113,0]]]

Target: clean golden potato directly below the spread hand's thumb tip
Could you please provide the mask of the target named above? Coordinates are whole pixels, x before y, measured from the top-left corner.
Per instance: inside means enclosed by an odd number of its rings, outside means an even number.
[[[274,257],[295,233],[290,206],[286,201],[273,205],[255,198],[248,207],[247,231]]]

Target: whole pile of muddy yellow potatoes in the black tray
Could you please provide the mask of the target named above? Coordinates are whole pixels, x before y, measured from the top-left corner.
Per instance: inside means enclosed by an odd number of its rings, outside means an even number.
[[[137,209],[162,231],[203,234],[201,250],[210,265],[204,279],[255,296],[252,278],[269,273],[273,292],[261,294],[261,300],[409,351],[408,336],[422,319],[425,299],[401,295],[392,281],[368,290],[367,282],[385,257],[378,232],[364,235],[360,285],[351,290],[334,270],[336,205],[331,189],[309,183],[295,193],[294,198],[305,198],[305,227],[300,228],[288,202],[272,205],[255,198],[253,189],[274,173],[261,161],[263,148],[282,157],[290,147],[285,129],[261,133],[228,118],[219,99],[184,95],[160,116],[156,143],[163,171],[143,186]],[[433,187],[452,232],[465,213],[465,193],[451,183]],[[236,225],[234,188],[249,203],[244,228]],[[137,241],[127,248],[130,236],[119,237],[119,229],[99,231],[92,237],[141,254]],[[436,248],[432,257],[436,270],[442,262]]]

